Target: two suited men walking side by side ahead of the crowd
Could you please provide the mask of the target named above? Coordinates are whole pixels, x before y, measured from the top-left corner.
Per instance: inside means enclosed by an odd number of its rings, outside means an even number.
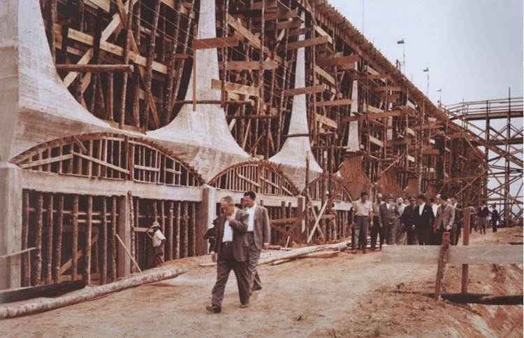
[[[267,250],[270,244],[268,211],[256,204],[254,192],[246,192],[238,206],[231,196],[226,196],[220,201],[220,209],[214,227],[205,234],[205,238],[212,239],[211,257],[217,262],[217,281],[212,289],[211,304],[206,306],[212,314],[221,312],[231,270],[237,279],[240,307],[248,307],[252,292],[262,289],[256,265],[261,251]]]

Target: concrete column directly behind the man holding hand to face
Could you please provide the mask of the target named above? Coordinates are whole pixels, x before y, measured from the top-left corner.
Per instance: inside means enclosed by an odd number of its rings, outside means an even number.
[[[204,233],[208,230],[213,222],[217,205],[217,189],[204,185],[202,188],[202,203],[198,211],[198,220],[196,223],[196,250],[197,255],[208,253],[208,241],[203,239]]]

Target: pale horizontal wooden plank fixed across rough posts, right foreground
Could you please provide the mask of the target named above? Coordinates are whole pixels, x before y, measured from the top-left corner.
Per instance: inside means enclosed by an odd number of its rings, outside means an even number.
[[[440,246],[386,246],[382,262],[390,264],[437,264]],[[448,264],[522,264],[523,247],[451,246]]]

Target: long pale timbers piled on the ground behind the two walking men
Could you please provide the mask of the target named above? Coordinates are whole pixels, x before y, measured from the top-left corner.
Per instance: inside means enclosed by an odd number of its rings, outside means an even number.
[[[330,258],[335,257],[337,253],[333,251],[342,251],[351,244],[351,241],[342,241],[336,244],[323,244],[321,246],[305,246],[304,248],[296,248],[290,251],[267,251],[261,253],[259,260],[259,265],[270,264],[273,262],[275,265],[289,262],[290,260],[295,260],[297,258]],[[316,254],[320,251],[331,251],[328,253],[323,253],[322,255]],[[201,267],[211,267],[217,265],[217,263],[202,263]]]

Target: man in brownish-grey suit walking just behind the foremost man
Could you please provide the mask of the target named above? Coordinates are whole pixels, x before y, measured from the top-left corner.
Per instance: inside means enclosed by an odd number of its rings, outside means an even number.
[[[260,251],[268,250],[270,243],[270,227],[268,210],[263,206],[256,205],[256,195],[252,191],[244,194],[245,211],[249,215],[247,221],[247,276],[249,277],[249,290],[257,291],[262,289],[259,272],[256,265],[259,264]]]

